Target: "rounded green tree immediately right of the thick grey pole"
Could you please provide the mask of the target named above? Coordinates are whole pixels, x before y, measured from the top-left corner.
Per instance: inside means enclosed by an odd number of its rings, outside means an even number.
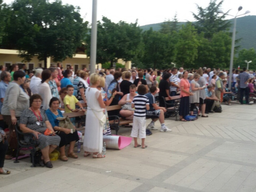
[[[97,62],[113,62],[118,58],[125,61],[133,60],[139,54],[141,49],[141,32],[137,21],[134,24],[127,24],[120,21],[113,23],[110,19],[102,17],[102,23],[98,22],[97,32]],[[91,46],[91,34],[87,36],[88,48]],[[88,49],[90,55],[90,49]]]

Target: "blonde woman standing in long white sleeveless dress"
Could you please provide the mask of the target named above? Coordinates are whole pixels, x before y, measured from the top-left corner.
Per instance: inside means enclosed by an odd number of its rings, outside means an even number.
[[[97,87],[100,84],[100,76],[96,73],[90,75],[92,86],[86,89],[87,115],[86,130],[84,133],[83,150],[84,157],[93,153],[93,158],[103,158],[101,154],[103,147],[103,126],[100,119],[104,115],[105,104]]]

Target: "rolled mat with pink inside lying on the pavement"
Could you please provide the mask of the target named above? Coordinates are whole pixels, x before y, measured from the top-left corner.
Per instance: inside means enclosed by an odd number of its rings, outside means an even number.
[[[111,148],[113,150],[122,150],[124,147],[128,146],[132,142],[131,137],[124,137],[120,135],[104,135],[103,142],[106,143],[106,148]]]

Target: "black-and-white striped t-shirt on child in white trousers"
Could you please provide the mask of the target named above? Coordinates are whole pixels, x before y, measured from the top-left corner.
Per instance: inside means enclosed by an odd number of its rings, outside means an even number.
[[[144,95],[138,95],[133,98],[135,106],[134,116],[136,117],[145,117],[146,116],[146,104],[150,104],[148,98]]]

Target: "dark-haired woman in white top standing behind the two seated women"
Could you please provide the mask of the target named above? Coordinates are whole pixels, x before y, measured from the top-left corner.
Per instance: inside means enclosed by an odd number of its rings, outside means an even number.
[[[52,72],[48,69],[42,71],[42,81],[38,86],[38,95],[42,97],[42,109],[48,110],[49,103],[52,98],[52,91],[49,86],[49,81],[52,79]]]

